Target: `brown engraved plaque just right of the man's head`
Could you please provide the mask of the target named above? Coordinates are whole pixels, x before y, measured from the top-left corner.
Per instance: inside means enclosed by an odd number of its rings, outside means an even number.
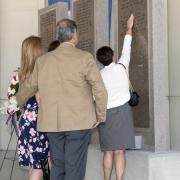
[[[94,55],[94,0],[77,0],[73,2],[73,7],[73,17],[79,34],[77,47]]]

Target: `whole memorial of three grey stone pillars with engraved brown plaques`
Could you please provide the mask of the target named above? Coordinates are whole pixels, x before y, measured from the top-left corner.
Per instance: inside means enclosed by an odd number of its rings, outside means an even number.
[[[67,7],[60,3],[39,12],[39,32],[44,47],[56,37],[56,23],[67,17]],[[59,6],[60,6],[59,5]],[[136,133],[144,137],[148,149],[169,148],[168,59],[166,11],[160,0],[113,0],[111,38],[109,38],[108,0],[73,0],[72,15],[79,33],[78,47],[95,57],[96,50],[109,44],[120,56],[126,22],[135,16],[130,79],[140,95],[140,104],[133,107]],[[157,7],[158,6],[158,7]],[[158,9],[159,8],[159,9]],[[59,9],[59,10],[57,10]],[[110,41],[110,42],[109,42]],[[157,78],[158,77],[158,78]],[[163,112],[163,113],[162,113]],[[98,143],[97,131],[92,143]]]

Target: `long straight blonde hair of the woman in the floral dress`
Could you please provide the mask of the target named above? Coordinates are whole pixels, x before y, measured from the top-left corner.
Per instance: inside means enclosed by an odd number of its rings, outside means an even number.
[[[30,36],[23,41],[21,48],[21,67],[19,70],[20,83],[23,83],[32,73],[35,61],[42,53],[42,41],[40,37]]]

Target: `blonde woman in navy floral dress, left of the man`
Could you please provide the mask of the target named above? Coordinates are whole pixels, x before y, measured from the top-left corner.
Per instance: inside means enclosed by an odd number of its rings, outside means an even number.
[[[30,36],[22,43],[19,83],[23,83],[33,71],[36,59],[42,55],[41,38]],[[38,98],[38,95],[37,95]],[[38,99],[31,97],[24,105],[19,119],[19,165],[28,166],[29,180],[41,180],[44,161],[48,157],[49,143],[46,134],[36,131]]]

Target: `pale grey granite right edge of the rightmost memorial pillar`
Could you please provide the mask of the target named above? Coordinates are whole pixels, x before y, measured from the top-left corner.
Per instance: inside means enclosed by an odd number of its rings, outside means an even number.
[[[152,0],[149,5],[155,150],[161,151],[170,149],[167,0]]]

